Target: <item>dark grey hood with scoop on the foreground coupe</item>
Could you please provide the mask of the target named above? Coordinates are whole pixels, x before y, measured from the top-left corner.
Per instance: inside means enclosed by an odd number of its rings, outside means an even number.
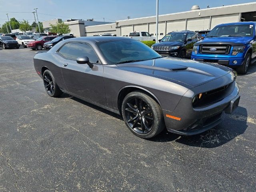
[[[176,58],[159,58],[141,62],[117,64],[122,70],[155,76],[192,88],[220,78],[230,69],[218,64]]]

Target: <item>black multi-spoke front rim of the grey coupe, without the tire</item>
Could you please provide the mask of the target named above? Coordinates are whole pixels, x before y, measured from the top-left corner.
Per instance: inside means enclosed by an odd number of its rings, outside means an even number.
[[[128,98],[123,106],[123,114],[128,127],[138,134],[148,134],[154,126],[152,108],[140,97]]]

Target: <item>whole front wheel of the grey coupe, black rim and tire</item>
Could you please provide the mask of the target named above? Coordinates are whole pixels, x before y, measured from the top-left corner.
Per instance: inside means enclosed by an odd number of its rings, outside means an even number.
[[[140,138],[152,138],[164,129],[164,118],[159,104],[144,92],[126,95],[122,103],[126,126]]]

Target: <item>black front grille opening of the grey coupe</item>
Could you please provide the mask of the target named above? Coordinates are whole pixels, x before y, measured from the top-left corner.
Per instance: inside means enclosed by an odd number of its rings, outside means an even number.
[[[232,91],[234,90],[234,86],[235,86],[235,83],[232,82],[225,86],[202,93],[203,94],[202,98],[197,99],[196,102],[193,103],[193,107],[196,108],[196,107],[206,106],[222,100],[223,98],[225,98],[226,96],[232,93]]]

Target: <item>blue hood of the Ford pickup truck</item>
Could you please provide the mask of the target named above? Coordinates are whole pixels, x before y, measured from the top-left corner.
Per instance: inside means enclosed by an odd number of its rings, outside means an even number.
[[[252,37],[209,37],[196,42],[194,45],[200,44],[231,44],[232,46],[243,46],[250,42]]]

